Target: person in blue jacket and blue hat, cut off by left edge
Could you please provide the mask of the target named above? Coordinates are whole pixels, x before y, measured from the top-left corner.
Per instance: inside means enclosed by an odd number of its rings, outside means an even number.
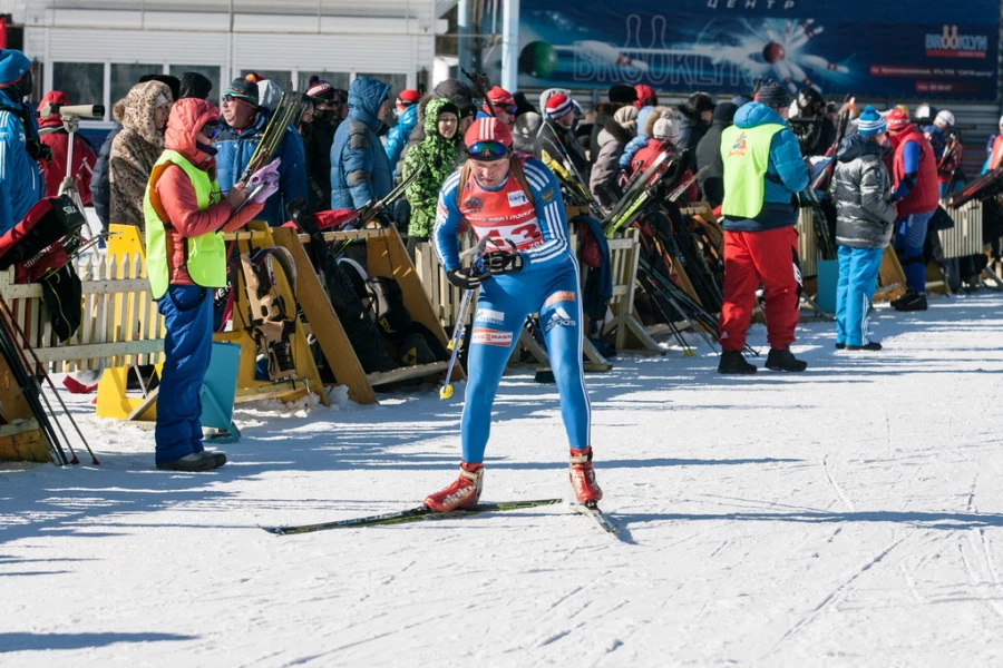
[[[31,94],[31,61],[16,49],[0,50],[0,235],[21,222],[46,194],[39,158],[47,146],[25,104]]]

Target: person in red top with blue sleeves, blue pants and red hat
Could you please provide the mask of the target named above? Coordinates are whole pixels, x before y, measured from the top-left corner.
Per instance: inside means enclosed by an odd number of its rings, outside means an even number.
[[[908,291],[892,302],[896,311],[926,311],[926,263],[923,262],[923,243],[926,227],[941,198],[937,184],[937,159],[933,147],[909,122],[906,111],[892,109],[887,117],[888,138],[895,151],[893,157],[893,202],[898,219],[892,245],[898,254],[906,275]]]

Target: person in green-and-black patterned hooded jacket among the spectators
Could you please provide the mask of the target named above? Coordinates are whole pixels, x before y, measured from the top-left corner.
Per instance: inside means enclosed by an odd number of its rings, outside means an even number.
[[[436,98],[425,110],[425,139],[416,144],[405,156],[402,178],[407,179],[420,166],[425,166],[407,197],[411,204],[408,225],[409,244],[427,240],[436,225],[436,205],[439,189],[456,169],[459,146],[459,108],[448,98]]]

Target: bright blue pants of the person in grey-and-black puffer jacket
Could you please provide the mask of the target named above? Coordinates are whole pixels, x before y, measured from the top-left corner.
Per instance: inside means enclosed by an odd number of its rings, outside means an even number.
[[[839,246],[839,281],[836,283],[836,343],[868,342],[867,312],[877,286],[884,248]]]

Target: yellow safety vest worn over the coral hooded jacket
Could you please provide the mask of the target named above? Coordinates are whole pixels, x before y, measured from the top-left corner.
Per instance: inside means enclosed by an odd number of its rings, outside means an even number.
[[[205,170],[193,165],[188,158],[176,150],[167,149],[160,154],[160,159],[154,165],[149,183],[146,185],[146,195],[143,197],[143,210],[146,216],[146,269],[149,274],[149,288],[154,299],[159,299],[167,294],[171,283],[166,230],[171,223],[160,219],[150,197],[156,197],[157,180],[169,165],[177,165],[188,176],[192,187],[195,188],[198,210],[204,212],[222,199],[220,185],[215,180],[211,180]],[[225,286],[226,244],[223,242],[223,235],[218,232],[211,232],[185,240],[187,242],[185,268],[192,281],[203,287]]]

